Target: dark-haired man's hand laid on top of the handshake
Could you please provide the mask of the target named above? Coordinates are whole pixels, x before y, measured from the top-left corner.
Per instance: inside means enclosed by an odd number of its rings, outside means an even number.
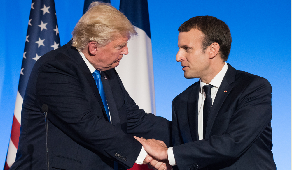
[[[134,136],[134,138],[143,145],[143,148],[152,157],[156,158],[157,160],[168,160],[167,147],[163,141],[157,141],[155,139],[146,140],[137,136]]]

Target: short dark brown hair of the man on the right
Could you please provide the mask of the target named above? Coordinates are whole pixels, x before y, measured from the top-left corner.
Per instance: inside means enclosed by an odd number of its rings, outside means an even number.
[[[218,43],[220,56],[227,61],[231,49],[231,34],[225,22],[212,16],[196,16],[184,22],[179,28],[180,32],[188,32],[198,29],[205,35],[202,40],[202,51],[204,52],[212,43]]]

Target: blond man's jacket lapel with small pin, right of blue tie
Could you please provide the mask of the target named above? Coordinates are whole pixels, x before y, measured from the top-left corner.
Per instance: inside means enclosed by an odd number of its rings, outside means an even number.
[[[114,102],[112,89],[109,85],[109,81],[105,80],[105,74],[103,71],[100,73],[100,79],[102,81],[103,90],[105,91],[105,96],[107,98],[107,105],[109,107],[109,112],[110,112],[110,117],[112,119],[112,124],[121,129],[121,122],[120,122],[117,106]]]

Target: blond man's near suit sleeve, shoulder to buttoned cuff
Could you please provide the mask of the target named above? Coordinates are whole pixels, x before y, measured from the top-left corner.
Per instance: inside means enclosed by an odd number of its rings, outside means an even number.
[[[48,120],[79,145],[132,167],[142,145],[96,114],[82,89],[72,67],[56,60],[46,62],[36,82],[38,106],[47,104]],[[117,150],[127,155],[127,161],[114,156]]]

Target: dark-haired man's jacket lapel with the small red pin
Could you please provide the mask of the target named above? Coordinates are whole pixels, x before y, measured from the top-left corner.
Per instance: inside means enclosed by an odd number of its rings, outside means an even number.
[[[234,82],[234,79],[235,79],[235,69],[228,64],[228,69],[227,69],[225,76],[220,84],[220,87],[218,89],[214,103],[212,105],[211,111],[210,111],[209,116],[208,116],[205,139],[209,139],[209,135],[211,133],[211,129],[213,127],[213,123],[215,121],[215,118],[216,118],[223,102],[225,101],[226,97],[228,96],[228,94],[230,93],[230,91],[233,88],[233,86],[230,84],[232,82]]]

